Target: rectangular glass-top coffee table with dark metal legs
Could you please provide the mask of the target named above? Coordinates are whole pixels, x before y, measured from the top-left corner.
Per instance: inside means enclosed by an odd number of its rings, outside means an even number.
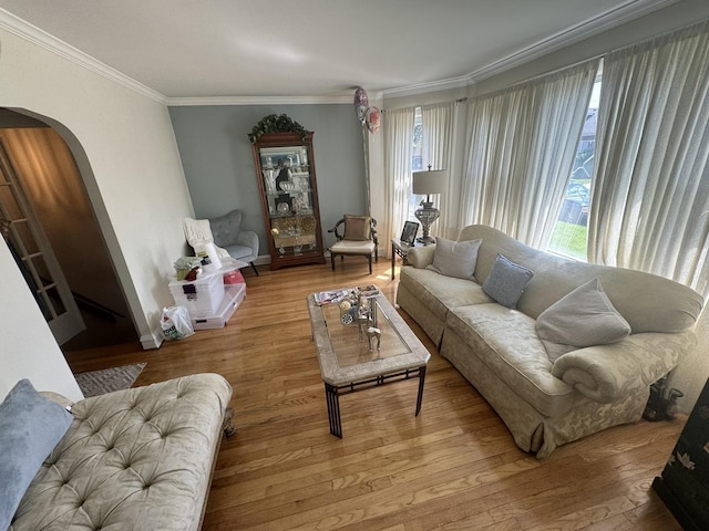
[[[383,295],[369,299],[370,311],[358,322],[356,309],[351,312],[354,319],[342,319],[342,313],[348,312],[342,312],[337,302],[319,304],[316,293],[309,294],[307,301],[330,433],[342,437],[340,395],[417,376],[418,416],[431,354],[391,303]]]

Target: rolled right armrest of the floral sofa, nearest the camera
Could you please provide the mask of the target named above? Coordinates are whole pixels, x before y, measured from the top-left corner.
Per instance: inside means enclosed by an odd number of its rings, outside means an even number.
[[[561,356],[552,374],[592,400],[609,404],[649,387],[670,372],[697,343],[693,332],[633,334]]]

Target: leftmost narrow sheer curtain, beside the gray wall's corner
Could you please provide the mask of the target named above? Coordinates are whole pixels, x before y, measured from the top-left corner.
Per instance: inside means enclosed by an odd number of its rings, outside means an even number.
[[[381,239],[398,238],[407,220],[411,194],[411,156],[415,107],[387,111],[384,119],[386,220]]]

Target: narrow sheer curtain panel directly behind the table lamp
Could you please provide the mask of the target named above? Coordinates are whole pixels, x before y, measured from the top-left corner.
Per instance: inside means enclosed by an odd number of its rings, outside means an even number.
[[[446,205],[451,199],[451,185],[453,183],[452,153],[454,134],[455,104],[439,103],[421,107],[421,158],[423,168],[445,169],[448,176],[448,190],[439,196],[438,208],[441,217],[431,227],[431,236],[445,235],[446,225],[444,219],[448,211]]]

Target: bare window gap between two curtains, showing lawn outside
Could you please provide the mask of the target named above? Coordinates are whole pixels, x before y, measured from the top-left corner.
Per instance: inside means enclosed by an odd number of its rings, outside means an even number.
[[[590,181],[594,169],[599,95],[600,75],[594,83],[588,112],[586,113],[586,123],[578,143],[571,179],[566,186],[566,197],[548,248],[549,251],[584,261],[586,260]]]

